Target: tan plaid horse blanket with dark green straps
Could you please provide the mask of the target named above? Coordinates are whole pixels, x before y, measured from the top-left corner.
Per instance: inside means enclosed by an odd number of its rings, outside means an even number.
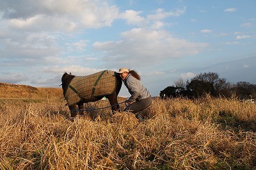
[[[74,105],[81,100],[90,101],[95,97],[110,95],[115,89],[115,72],[104,70],[92,75],[74,77],[64,96],[68,105]]]

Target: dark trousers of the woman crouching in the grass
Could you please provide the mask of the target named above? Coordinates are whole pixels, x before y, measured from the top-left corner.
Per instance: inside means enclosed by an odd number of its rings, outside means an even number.
[[[133,102],[132,104],[127,105],[124,111],[130,111],[132,113],[136,113],[147,108],[148,106],[150,106],[151,103],[152,103],[151,97],[136,100],[136,102]]]

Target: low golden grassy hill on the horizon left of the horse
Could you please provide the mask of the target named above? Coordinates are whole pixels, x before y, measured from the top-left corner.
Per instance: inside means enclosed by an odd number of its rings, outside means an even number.
[[[63,97],[61,88],[35,88],[0,82],[0,98],[56,99],[61,97]]]

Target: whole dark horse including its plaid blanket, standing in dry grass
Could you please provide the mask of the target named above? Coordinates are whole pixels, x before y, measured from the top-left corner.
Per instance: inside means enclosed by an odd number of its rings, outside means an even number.
[[[105,75],[108,77],[104,78]],[[96,79],[93,80],[92,77],[96,77]],[[76,81],[77,79],[78,81]],[[79,79],[81,79],[81,81]],[[79,84],[78,88],[74,88],[73,80]],[[83,80],[84,82],[82,82]],[[65,72],[61,77],[61,82],[63,96],[67,100],[68,108],[71,113],[71,119],[73,120],[77,115],[76,105],[78,106],[79,114],[83,115],[81,110],[83,110],[84,103],[95,102],[102,99],[103,97],[108,98],[113,114],[115,111],[120,111],[117,96],[122,86],[122,79],[116,72],[111,70],[104,70],[102,72],[87,76],[76,76],[72,75],[72,73],[68,74]],[[89,86],[92,88],[90,89],[90,94],[83,95],[81,91],[85,91],[84,89],[86,88],[88,91]],[[106,86],[111,86],[113,91],[106,93]],[[72,97],[68,97],[69,93],[72,93]],[[73,100],[74,98],[76,98],[76,100]]]

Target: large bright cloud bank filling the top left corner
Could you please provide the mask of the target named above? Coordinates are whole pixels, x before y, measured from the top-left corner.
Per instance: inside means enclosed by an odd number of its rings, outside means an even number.
[[[4,1],[0,10],[13,29],[66,32],[111,26],[119,13],[115,5],[104,1],[83,0]]]

